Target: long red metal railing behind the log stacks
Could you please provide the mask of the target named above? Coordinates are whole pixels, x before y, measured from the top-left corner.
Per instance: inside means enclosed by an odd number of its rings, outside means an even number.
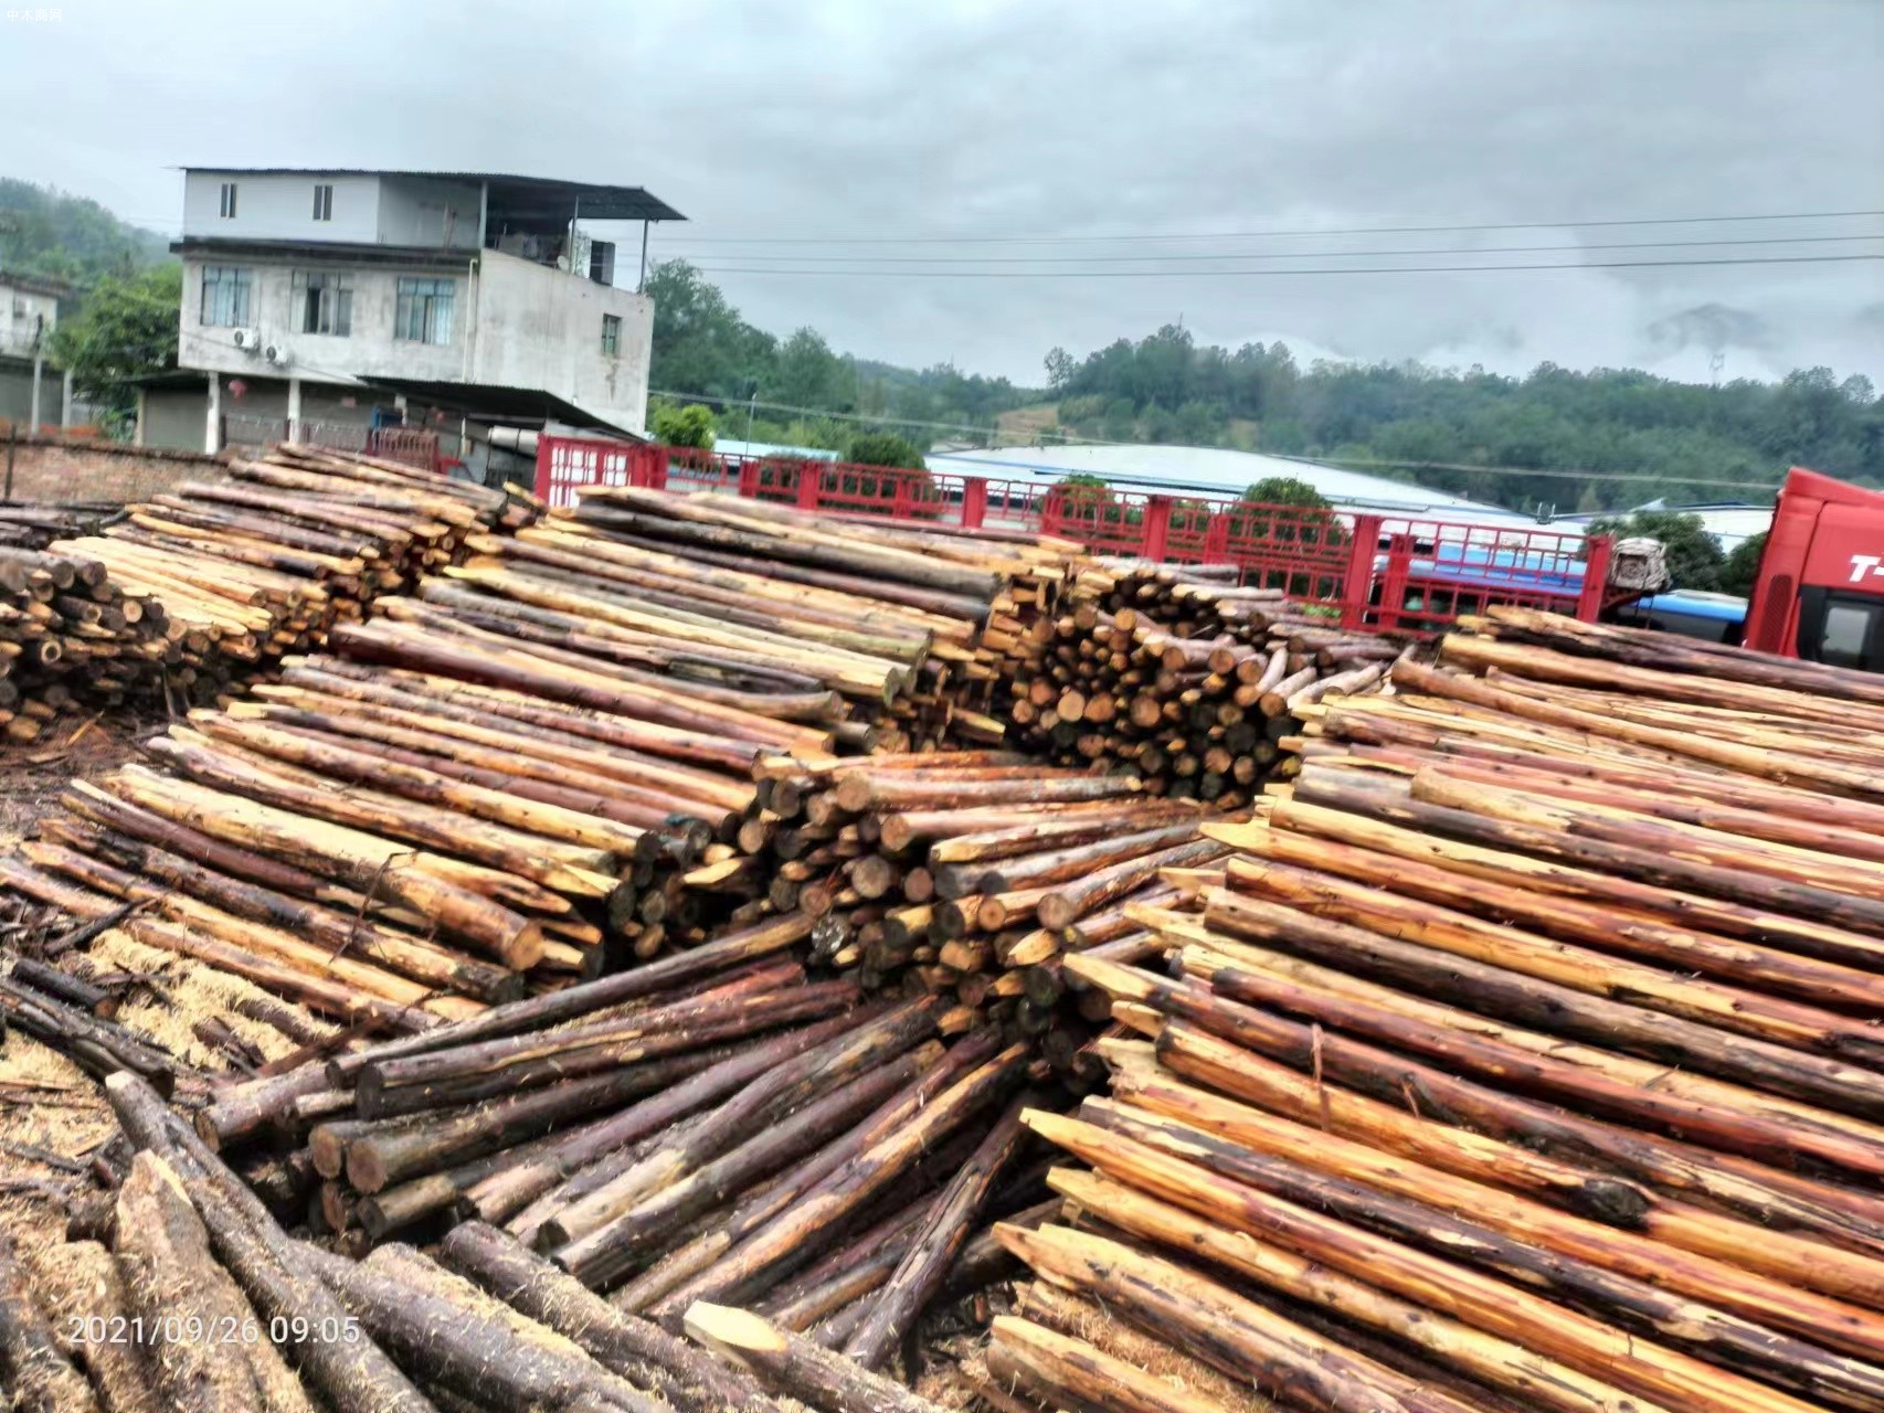
[[[1594,622],[1609,578],[1611,541],[1601,535],[737,458],[691,447],[575,437],[543,437],[537,447],[537,494],[552,505],[573,505],[577,490],[593,484],[712,490],[853,518],[1053,535],[1095,554],[1236,565],[1243,584],[1324,603],[1330,620],[1356,631],[1443,631],[1458,614],[1490,603]]]

